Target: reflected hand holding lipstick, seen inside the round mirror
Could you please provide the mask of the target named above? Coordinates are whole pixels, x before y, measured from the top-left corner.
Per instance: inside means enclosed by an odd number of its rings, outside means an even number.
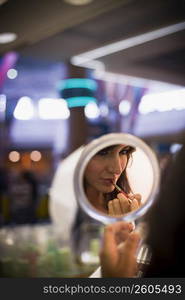
[[[125,196],[125,194],[119,193],[117,198],[108,202],[108,213],[110,216],[123,216],[124,214],[138,209],[140,205],[140,194],[128,194]]]

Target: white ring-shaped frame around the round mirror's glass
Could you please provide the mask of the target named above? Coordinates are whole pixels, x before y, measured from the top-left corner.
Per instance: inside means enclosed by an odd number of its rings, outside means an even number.
[[[126,144],[133,147],[139,147],[143,152],[147,155],[151,162],[152,170],[153,170],[153,184],[151,188],[151,192],[148,196],[148,200],[137,210],[130,212],[121,217],[111,217],[108,214],[98,211],[95,207],[93,207],[87,199],[87,196],[84,191],[83,179],[84,179],[84,171],[85,168],[90,161],[90,159],[101,149],[118,144]],[[160,168],[157,157],[152,149],[140,138],[133,136],[131,134],[125,133],[110,133],[101,136],[90,142],[83,150],[79,161],[76,165],[74,172],[74,190],[77,198],[77,202],[80,207],[92,218],[104,223],[109,224],[115,221],[124,220],[127,222],[134,221],[140,217],[142,217],[153,204],[155,197],[159,190],[159,182],[160,182]]]

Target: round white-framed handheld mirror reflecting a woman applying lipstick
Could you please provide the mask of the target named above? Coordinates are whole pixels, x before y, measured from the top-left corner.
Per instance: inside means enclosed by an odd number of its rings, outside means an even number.
[[[159,164],[140,138],[111,133],[85,146],[74,172],[80,207],[104,224],[145,214],[158,192]]]

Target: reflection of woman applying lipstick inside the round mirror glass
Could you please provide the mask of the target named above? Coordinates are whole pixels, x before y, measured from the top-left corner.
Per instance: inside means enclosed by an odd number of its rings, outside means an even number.
[[[143,168],[147,178],[142,181]],[[100,212],[123,216],[146,201],[152,174],[149,160],[141,149],[126,144],[111,145],[98,151],[88,162],[84,172],[85,194]]]

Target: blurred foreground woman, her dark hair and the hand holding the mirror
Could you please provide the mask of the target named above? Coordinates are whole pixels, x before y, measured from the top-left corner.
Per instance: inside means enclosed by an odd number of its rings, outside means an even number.
[[[185,277],[185,143],[173,160],[163,180],[155,205],[145,216],[148,227],[146,243],[151,262],[143,277]],[[122,226],[124,222],[122,222]],[[104,233],[100,254],[103,277],[135,277],[138,233],[125,237],[118,247],[120,225],[109,225]]]

